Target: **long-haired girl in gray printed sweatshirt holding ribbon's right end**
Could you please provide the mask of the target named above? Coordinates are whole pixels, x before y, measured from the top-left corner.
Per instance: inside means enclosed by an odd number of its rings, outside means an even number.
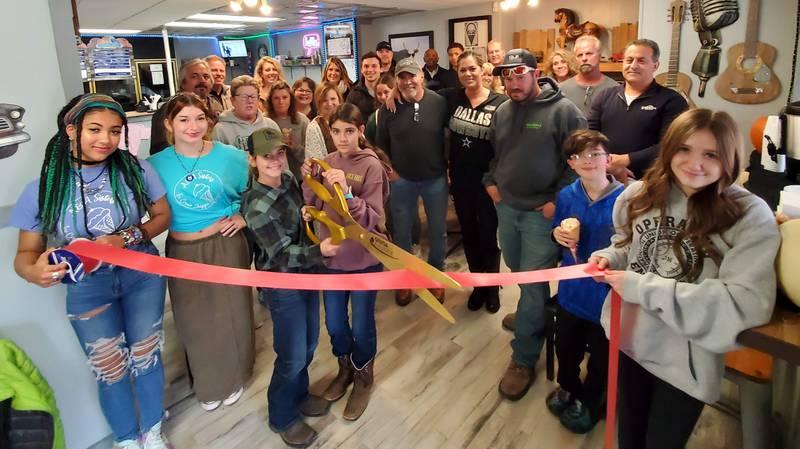
[[[734,185],[741,142],[725,112],[678,116],[617,199],[611,246],[590,259],[623,300],[620,449],[684,447],[719,398],[724,353],[772,314],[780,236],[769,206]],[[606,300],[607,333],[609,319]]]

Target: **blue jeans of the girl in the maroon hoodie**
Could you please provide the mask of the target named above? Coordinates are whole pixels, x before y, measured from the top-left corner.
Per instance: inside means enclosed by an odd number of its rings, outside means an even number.
[[[377,264],[362,270],[342,271],[329,269],[330,273],[377,273],[383,265]],[[375,290],[326,290],[322,297],[325,302],[325,327],[331,336],[333,355],[341,357],[352,354],[356,366],[364,366],[375,357],[378,350],[378,331],[375,328]],[[353,324],[347,316],[348,300],[353,309]]]

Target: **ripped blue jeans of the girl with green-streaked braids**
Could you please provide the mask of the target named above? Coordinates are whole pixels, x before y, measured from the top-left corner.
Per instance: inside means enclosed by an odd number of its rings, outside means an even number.
[[[131,249],[158,255],[149,242]],[[97,378],[100,407],[117,441],[138,438],[164,416],[166,288],[165,278],[109,265],[67,287],[67,316]]]

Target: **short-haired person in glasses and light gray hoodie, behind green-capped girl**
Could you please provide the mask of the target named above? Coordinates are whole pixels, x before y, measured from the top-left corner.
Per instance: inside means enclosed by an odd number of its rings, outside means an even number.
[[[237,76],[231,82],[231,101],[233,109],[219,115],[213,140],[247,150],[247,137],[261,128],[280,131],[274,120],[267,118],[258,109],[258,84],[252,76]]]

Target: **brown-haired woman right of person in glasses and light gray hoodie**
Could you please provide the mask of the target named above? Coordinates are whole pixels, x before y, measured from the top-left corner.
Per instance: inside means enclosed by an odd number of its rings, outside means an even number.
[[[267,97],[267,117],[275,120],[283,133],[283,142],[290,149],[289,169],[300,178],[300,164],[305,158],[306,128],[308,119],[297,112],[292,89],[284,81],[272,86]]]

